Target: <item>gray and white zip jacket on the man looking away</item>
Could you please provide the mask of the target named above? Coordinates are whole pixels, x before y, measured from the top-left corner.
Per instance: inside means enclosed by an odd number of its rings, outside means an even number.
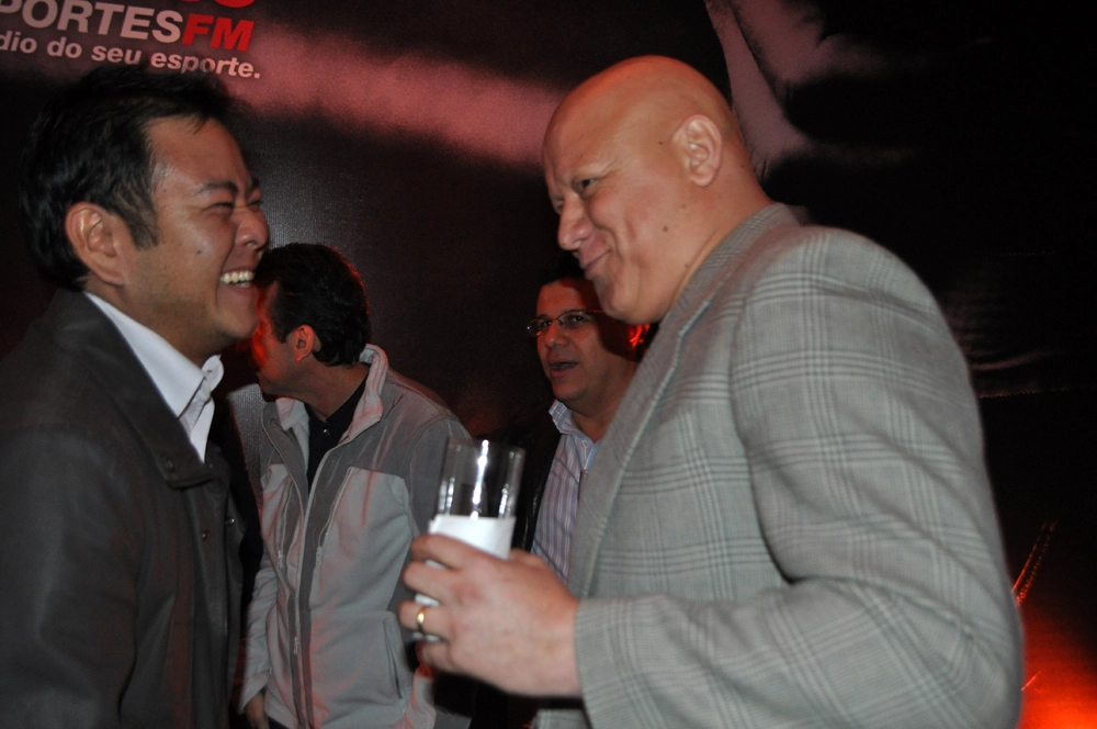
[[[411,638],[394,610],[410,597],[400,573],[433,515],[445,440],[467,433],[434,393],[391,371],[381,349],[366,346],[360,359],[365,390],[312,491],[304,403],[263,411],[265,550],[240,706],[265,687],[267,714],[287,727],[433,727],[429,674],[412,675]]]

